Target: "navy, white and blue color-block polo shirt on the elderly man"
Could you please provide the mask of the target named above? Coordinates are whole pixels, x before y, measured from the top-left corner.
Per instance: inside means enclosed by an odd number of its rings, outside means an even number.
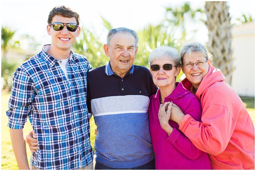
[[[98,135],[96,162],[113,168],[131,168],[152,161],[148,107],[156,93],[146,67],[132,65],[121,78],[110,63],[89,71],[87,106],[94,116]]]

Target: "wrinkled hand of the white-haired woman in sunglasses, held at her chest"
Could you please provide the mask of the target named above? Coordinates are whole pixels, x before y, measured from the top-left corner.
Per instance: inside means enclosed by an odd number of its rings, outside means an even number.
[[[158,119],[161,127],[170,135],[173,128],[169,125],[170,115],[171,115],[172,104],[170,102],[165,102],[160,105],[158,111]]]

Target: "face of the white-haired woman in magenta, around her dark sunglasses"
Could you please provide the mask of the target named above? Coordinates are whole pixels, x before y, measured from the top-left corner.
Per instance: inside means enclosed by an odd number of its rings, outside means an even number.
[[[164,64],[172,64],[174,65],[174,61],[168,59],[155,59],[151,65],[157,64],[159,66],[163,66]],[[153,82],[156,86],[161,89],[173,89],[175,87],[175,77],[177,77],[180,73],[180,67],[172,67],[172,70],[164,70],[163,67],[160,67],[160,70],[152,71],[150,68],[150,72],[153,76]]]

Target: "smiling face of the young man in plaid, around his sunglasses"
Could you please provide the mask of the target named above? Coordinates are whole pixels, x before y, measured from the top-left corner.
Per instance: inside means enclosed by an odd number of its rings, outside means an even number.
[[[62,22],[62,23],[76,23],[76,18],[66,18],[62,16],[54,16],[51,23]],[[64,26],[60,31],[55,31],[52,26],[47,26],[48,35],[51,35],[51,49],[53,51],[67,51],[69,52],[71,46],[75,43],[76,37],[80,34],[80,27],[75,32],[70,32]]]

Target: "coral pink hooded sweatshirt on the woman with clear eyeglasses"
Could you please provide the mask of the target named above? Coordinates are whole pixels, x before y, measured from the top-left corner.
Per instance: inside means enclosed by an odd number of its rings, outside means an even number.
[[[208,153],[212,169],[254,169],[254,125],[242,100],[224,80],[221,70],[211,65],[196,91],[201,122],[185,113],[179,129]],[[182,83],[190,90],[187,78]]]

